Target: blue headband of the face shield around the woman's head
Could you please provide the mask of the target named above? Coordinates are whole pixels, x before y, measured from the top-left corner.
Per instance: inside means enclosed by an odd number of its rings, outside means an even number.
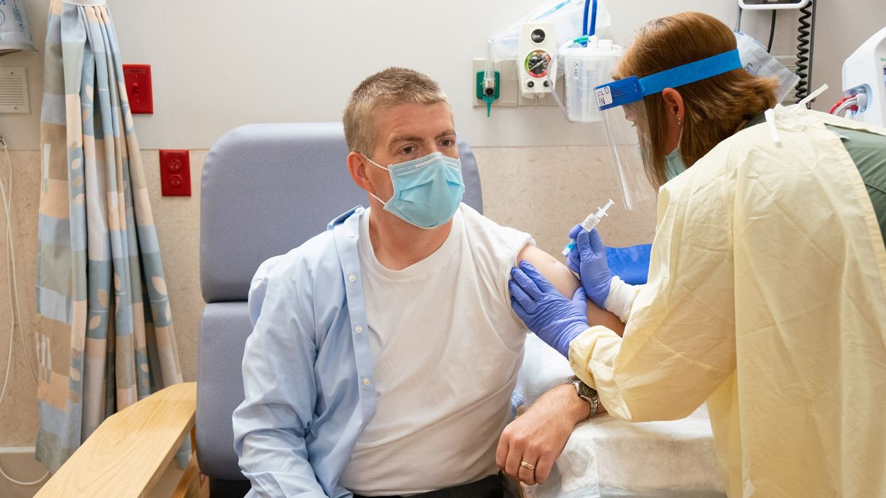
[[[667,88],[677,88],[700,82],[711,76],[742,68],[738,50],[723,52],[709,58],[696,60],[683,66],[672,67],[661,73],[638,78],[631,76],[618,82],[602,84],[594,89],[597,106],[601,111],[641,100]]]

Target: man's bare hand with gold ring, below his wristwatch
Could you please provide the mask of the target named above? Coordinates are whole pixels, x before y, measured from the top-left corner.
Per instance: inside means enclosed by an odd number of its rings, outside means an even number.
[[[590,405],[579,398],[573,385],[557,385],[504,428],[495,463],[511,478],[530,486],[543,484],[575,424],[587,418],[590,411]]]

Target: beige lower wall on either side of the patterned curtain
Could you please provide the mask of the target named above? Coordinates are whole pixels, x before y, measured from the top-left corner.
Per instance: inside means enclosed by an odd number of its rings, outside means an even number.
[[[167,290],[172,302],[179,354],[186,380],[195,377],[197,358],[197,323],[203,300],[200,297],[198,271],[199,197],[162,198],[159,196],[159,167],[156,151],[142,153],[144,170],[151,185],[152,209],[167,276]],[[205,151],[191,153],[192,182],[199,191],[200,166]],[[34,334],[43,323],[35,311],[35,262],[37,240],[37,205],[39,202],[40,154],[36,151],[12,152],[15,171],[12,232],[18,263],[19,299],[26,336],[28,358],[35,364]],[[5,261],[5,247],[0,247],[0,261]],[[9,300],[5,272],[0,272],[0,353],[5,363],[9,345]],[[37,429],[36,386],[27,373],[19,332],[13,343],[12,373],[7,399],[0,407],[0,447],[33,446]],[[2,375],[2,373],[0,373]]]

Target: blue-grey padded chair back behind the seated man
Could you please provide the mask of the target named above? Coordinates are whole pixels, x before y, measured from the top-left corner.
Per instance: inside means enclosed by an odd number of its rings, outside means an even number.
[[[483,212],[477,162],[458,141],[464,203]],[[249,481],[234,453],[231,414],[243,401],[240,364],[252,331],[246,296],[255,270],[326,230],[367,195],[346,166],[341,123],[257,124],[214,144],[200,190],[197,454],[213,498],[242,497]]]

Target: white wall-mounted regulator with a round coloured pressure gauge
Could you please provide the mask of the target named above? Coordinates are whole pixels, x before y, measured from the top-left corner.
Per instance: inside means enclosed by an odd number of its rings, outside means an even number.
[[[520,25],[517,74],[520,75],[523,97],[538,101],[540,96],[554,90],[556,34],[553,22],[525,22]]]

